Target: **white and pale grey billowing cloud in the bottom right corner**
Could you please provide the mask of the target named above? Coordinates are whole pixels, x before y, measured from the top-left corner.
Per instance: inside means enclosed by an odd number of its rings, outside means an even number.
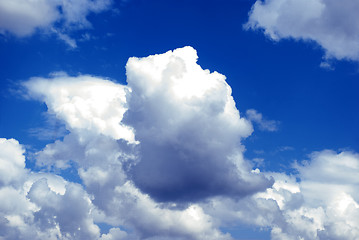
[[[272,239],[357,239],[358,164],[355,153],[316,152],[296,166],[297,176],[266,173],[275,179],[267,191],[239,201],[213,199],[205,209],[223,223],[271,228]]]

